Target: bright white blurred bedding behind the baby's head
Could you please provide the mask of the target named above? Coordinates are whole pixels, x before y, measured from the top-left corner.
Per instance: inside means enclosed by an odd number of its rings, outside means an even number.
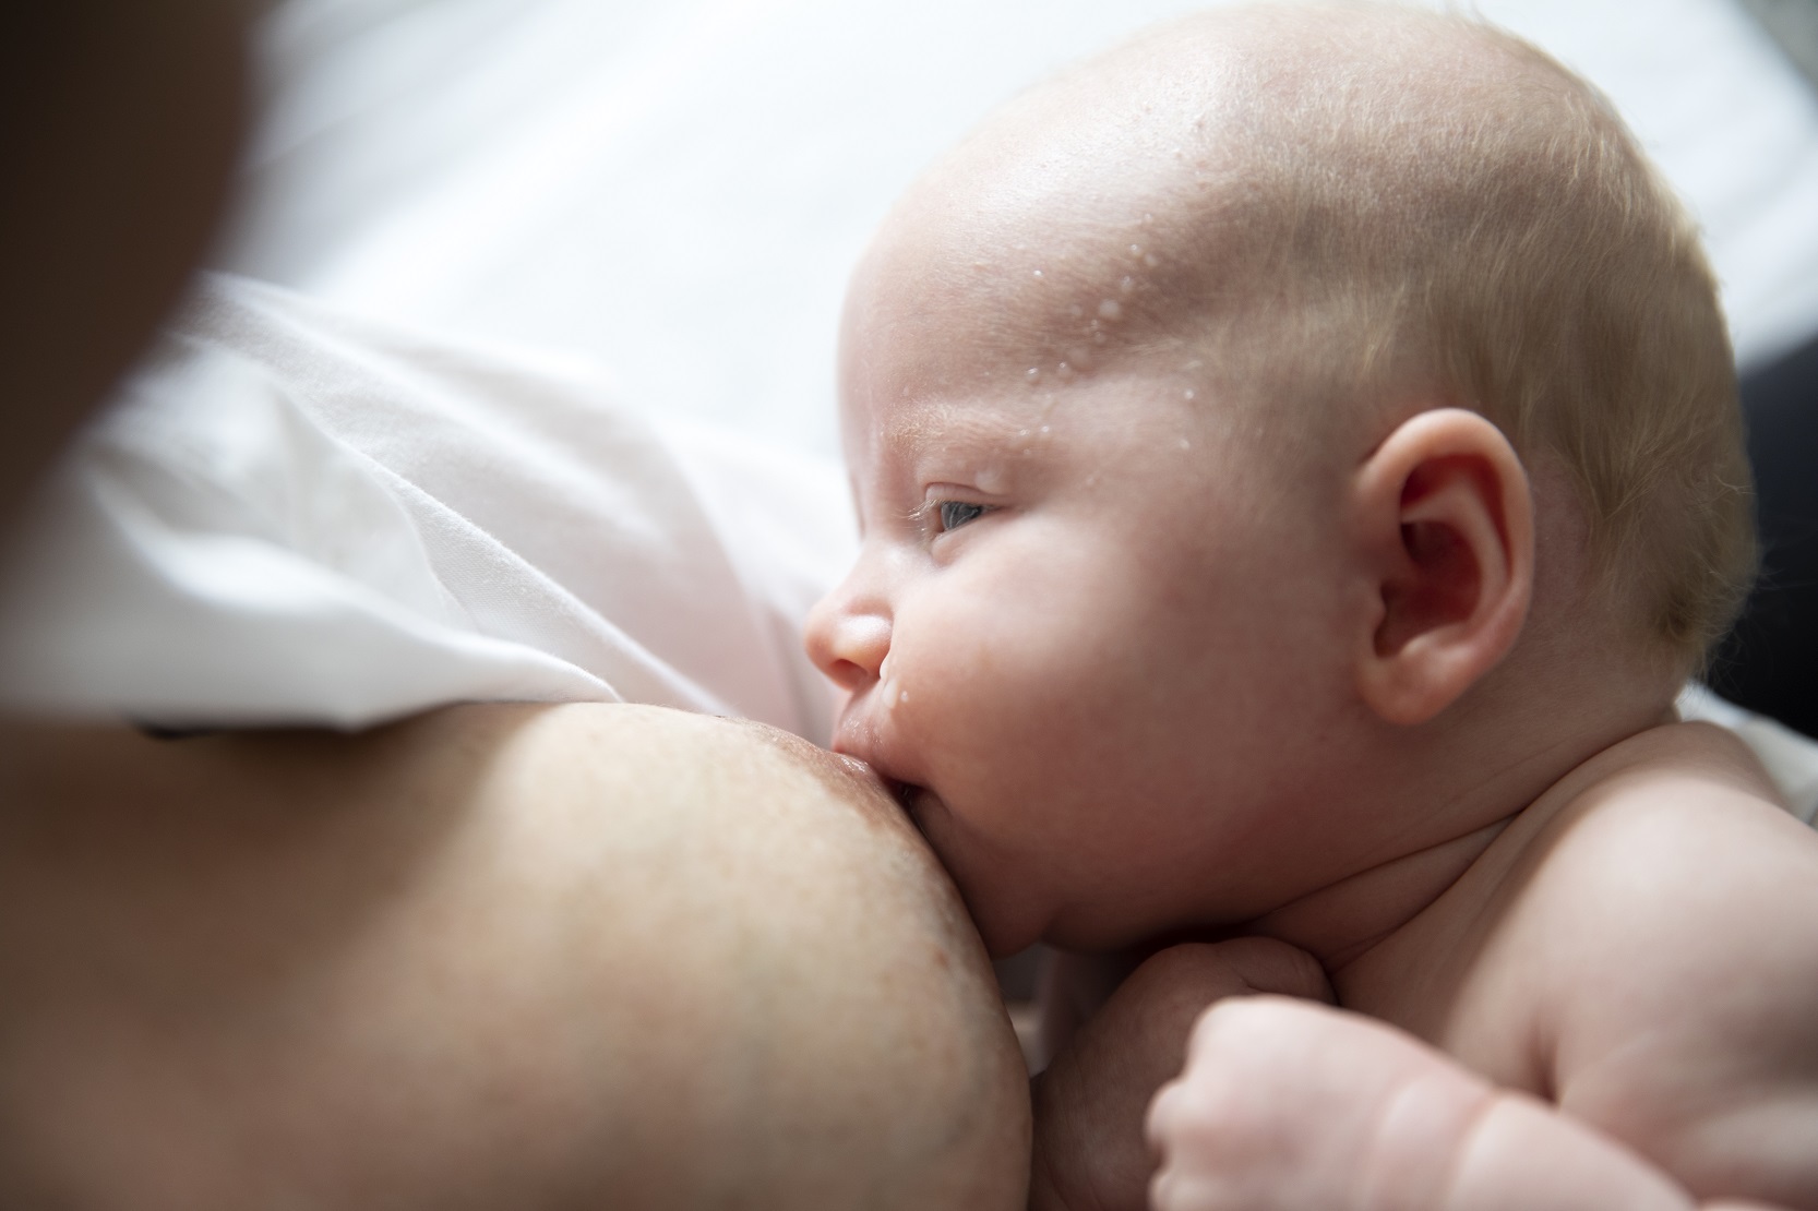
[[[278,0],[215,264],[831,456],[842,285],[891,200],[1024,85],[1191,7]],[[1738,0],[1476,7],[1627,115],[1745,367],[1818,331],[1818,96]]]

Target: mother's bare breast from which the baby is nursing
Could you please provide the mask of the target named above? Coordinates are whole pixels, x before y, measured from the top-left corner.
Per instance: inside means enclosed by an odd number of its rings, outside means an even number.
[[[891,798],[753,724],[0,727],[0,1206],[1020,1207]]]

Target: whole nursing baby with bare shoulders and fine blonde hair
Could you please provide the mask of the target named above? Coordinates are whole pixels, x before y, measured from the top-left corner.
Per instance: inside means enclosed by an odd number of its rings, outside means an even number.
[[[1818,836],[1673,715],[1754,556],[1731,353],[1593,89],[1164,27],[942,160],[842,345],[836,747],[993,953],[1153,955],[1031,1206],[1144,1206],[1193,1018],[1293,993],[1194,1027],[1153,1206],[1818,1207]]]

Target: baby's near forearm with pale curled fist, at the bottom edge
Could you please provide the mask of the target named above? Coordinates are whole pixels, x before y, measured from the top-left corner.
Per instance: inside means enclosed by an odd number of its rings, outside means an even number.
[[[1209,1009],[1149,1113],[1154,1211],[1693,1211],[1651,1164],[1413,1036],[1305,1000]],[[1707,1211],[1765,1207],[1711,1202]]]

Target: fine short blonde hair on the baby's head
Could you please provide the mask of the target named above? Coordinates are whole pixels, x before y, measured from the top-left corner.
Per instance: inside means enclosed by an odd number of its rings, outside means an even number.
[[[1233,20],[1262,36],[1214,56],[1213,187],[1176,233],[1198,267],[1169,285],[1200,304],[1185,344],[1285,400],[1285,436],[1358,398],[1378,429],[1416,400],[1480,411],[1567,469],[1594,587],[1698,667],[1756,560],[1733,355],[1698,231],[1613,105],[1505,31],[1405,5],[1213,13],[1131,49]]]

